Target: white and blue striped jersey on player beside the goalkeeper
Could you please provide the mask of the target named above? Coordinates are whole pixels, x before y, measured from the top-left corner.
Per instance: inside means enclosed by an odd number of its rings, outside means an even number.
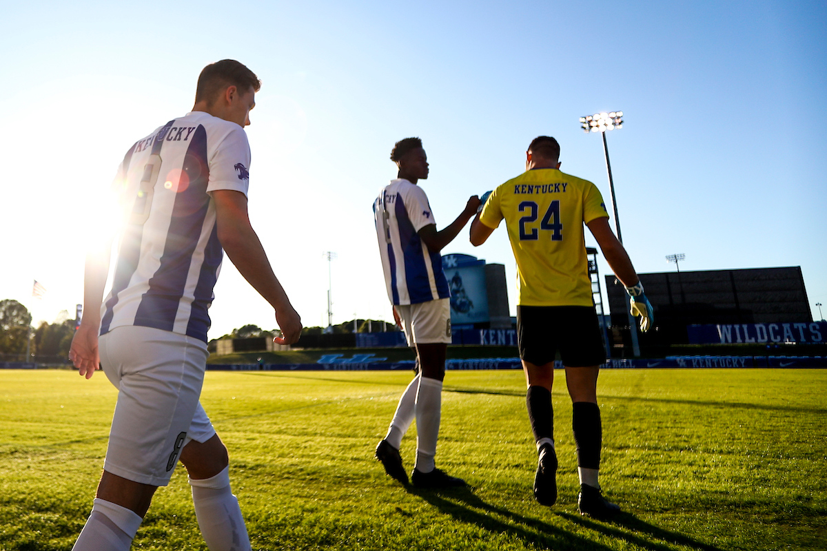
[[[376,198],[373,214],[390,302],[418,304],[450,297],[442,256],[428,250],[417,234],[436,224],[423,189],[404,178],[391,180]]]

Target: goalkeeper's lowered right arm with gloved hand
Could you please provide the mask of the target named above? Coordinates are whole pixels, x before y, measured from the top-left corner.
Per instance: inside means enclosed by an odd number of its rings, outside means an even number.
[[[600,250],[603,251],[603,256],[606,262],[609,263],[609,268],[612,268],[614,275],[626,287],[626,292],[629,293],[632,315],[640,317],[640,329],[644,332],[648,331],[655,320],[652,304],[643,294],[643,284],[640,283],[638,273],[634,271],[629,254],[626,253],[623,244],[612,233],[609,227],[609,219],[600,216],[587,223],[586,226],[589,227],[591,235],[595,236],[597,245],[600,245]]]

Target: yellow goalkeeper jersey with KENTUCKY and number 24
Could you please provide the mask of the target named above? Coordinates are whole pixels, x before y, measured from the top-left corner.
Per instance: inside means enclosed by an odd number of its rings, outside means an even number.
[[[557,169],[532,169],[488,197],[480,222],[504,218],[517,260],[520,306],[594,306],[583,225],[609,216],[595,184]]]

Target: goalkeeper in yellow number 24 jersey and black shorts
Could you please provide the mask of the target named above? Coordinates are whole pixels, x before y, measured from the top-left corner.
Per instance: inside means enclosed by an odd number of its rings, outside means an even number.
[[[560,352],[571,396],[581,515],[607,517],[620,511],[600,492],[602,432],[597,406],[597,375],[605,363],[586,260],[583,225],[595,236],[606,261],[624,283],[632,313],[645,331],[653,310],[643,294],[629,255],[609,228],[609,213],[595,184],[560,172],[560,145],[539,136],[526,152],[526,171],[490,193],[471,223],[471,244],[485,243],[505,219],[517,260],[519,300],[517,340],[528,392],[528,419],[538,449],[534,497],[557,501],[552,382]]]

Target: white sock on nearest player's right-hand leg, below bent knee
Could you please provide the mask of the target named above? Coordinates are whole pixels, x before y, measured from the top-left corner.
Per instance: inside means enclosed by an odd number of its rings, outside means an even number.
[[[230,467],[211,478],[189,479],[198,528],[210,551],[249,551],[250,538],[236,496],[230,490]]]

